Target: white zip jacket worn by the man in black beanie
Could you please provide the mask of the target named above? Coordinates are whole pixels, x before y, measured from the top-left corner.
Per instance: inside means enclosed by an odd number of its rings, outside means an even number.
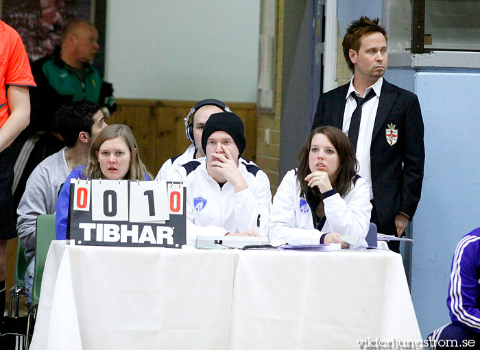
[[[187,185],[187,244],[199,235],[224,235],[250,229],[267,234],[272,201],[270,182],[258,166],[239,162],[248,188],[235,193],[226,182],[223,187],[208,175],[206,158],[184,164],[174,175]]]

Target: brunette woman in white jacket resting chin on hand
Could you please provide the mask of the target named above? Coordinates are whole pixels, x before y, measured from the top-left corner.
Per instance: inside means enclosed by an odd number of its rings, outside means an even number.
[[[370,225],[370,190],[357,173],[355,151],[335,127],[315,129],[300,150],[297,169],[278,186],[270,212],[269,240],[274,245],[340,243],[340,236],[357,238],[350,247],[366,247]]]

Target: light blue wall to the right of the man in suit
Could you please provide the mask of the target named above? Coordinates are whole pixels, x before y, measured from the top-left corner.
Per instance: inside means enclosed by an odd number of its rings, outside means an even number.
[[[480,226],[480,71],[390,68],[416,92],[425,125],[422,199],[413,218],[411,293],[422,336],[450,321],[446,296],[457,242]]]

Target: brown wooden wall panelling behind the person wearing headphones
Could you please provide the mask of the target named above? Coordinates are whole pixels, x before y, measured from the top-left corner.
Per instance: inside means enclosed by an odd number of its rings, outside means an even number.
[[[156,175],[165,160],[182,153],[190,142],[185,137],[184,117],[195,101],[118,99],[119,109],[106,123],[128,125],[139,144],[141,159]],[[256,159],[256,104],[227,103],[245,124],[245,158]]]

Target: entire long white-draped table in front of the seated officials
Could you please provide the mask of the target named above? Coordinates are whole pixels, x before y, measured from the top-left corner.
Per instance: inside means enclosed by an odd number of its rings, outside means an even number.
[[[32,350],[359,349],[420,340],[400,255],[53,241]]]

